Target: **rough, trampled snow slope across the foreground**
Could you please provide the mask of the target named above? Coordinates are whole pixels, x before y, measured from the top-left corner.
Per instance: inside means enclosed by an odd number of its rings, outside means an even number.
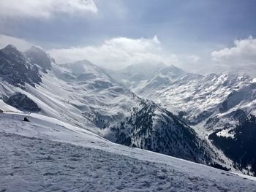
[[[108,142],[42,115],[0,114],[0,191],[256,191],[238,176]]]

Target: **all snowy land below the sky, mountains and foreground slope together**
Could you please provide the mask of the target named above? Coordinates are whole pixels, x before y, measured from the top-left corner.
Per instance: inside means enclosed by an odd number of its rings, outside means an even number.
[[[39,47],[8,45],[0,191],[252,191],[255,115],[246,74],[57,64]]]

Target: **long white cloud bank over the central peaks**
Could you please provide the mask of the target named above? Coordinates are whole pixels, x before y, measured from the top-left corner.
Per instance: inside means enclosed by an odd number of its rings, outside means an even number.
[[[49,50],[57,63],[88,59],[94,64],[110,69],[122,69],[139,63],[178,64],[179,58],[162,50],[161,43],[155,36],[152,39],[113,38],[100,46],[70,47]]]

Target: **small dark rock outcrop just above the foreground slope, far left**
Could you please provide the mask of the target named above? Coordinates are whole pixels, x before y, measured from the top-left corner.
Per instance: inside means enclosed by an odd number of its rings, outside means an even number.
[[[16,93],[4,102],[21,111],[39,112],[41,110],[33,100],[23,93]]]

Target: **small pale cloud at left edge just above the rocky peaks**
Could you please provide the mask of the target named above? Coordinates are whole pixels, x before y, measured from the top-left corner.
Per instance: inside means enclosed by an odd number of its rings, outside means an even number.
[[[27,42],[25,39],[19,39],[16,37],[0,34],[0,49],[10,44],[17,47],[18,50],[22,51],[29,49],[29,47],[33,45],[30,42]]]

